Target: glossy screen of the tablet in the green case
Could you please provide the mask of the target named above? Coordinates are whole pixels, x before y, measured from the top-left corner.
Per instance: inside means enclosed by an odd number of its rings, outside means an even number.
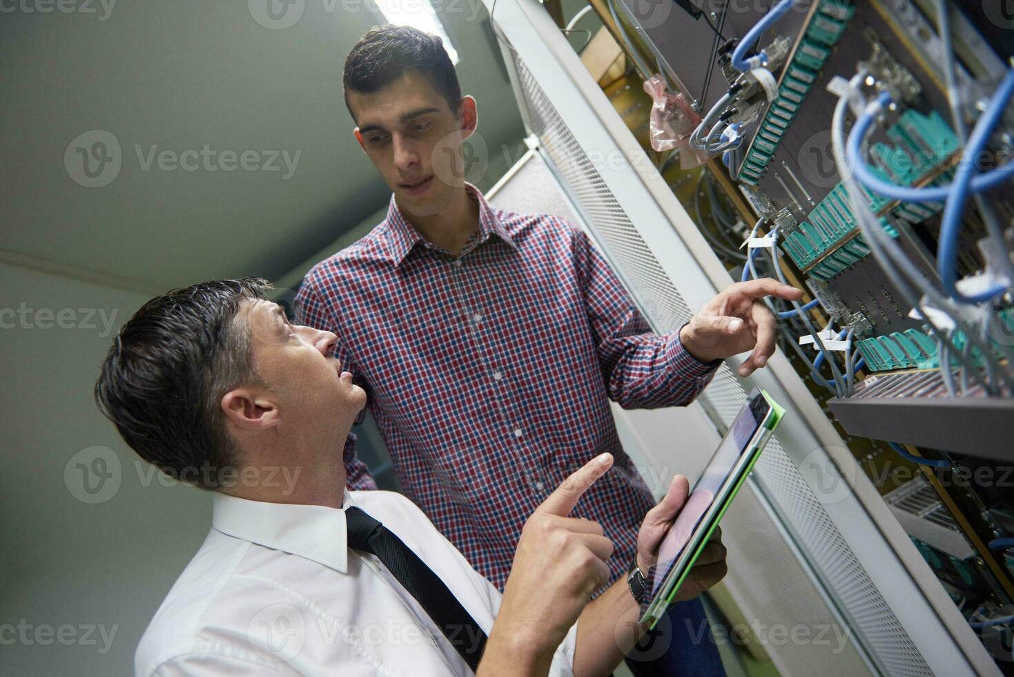
[[[682,553],[683,548],[691,539],[694,530],[697,529],[701,518],[711,506],[712,501],[718,494],[722,484],[736,467],[736,462],[749,445],[750,439],[756,432],[757,427],[764,420],[768,411],[768,404],[764,396],[759,393],[750,399],[749,406],[743,407],[732,421],[729,431],[722,438],[718,451],[705,466],[701,477],[694,484],[691,495],[686,503],[672,527],[669,528],[662,544],[658,549],[658,563],[655,566],[654,577],[651,585],[651,596],[658,594],[658,589],[665,582],[665,578],[672,568],[672,564]]]

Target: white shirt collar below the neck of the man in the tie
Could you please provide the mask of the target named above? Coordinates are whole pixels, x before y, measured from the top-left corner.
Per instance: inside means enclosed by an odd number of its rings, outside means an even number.
[[[216,491],[211,524],[223,534],[348,573],[345,509],[350,504],[352,496],[348,490],[341,510],[247,500]]]

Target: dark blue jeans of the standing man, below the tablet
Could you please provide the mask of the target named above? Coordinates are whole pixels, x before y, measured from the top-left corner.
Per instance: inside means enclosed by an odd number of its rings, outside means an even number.
[[[669,607],[627,655],[627,667],[635,677],[724,677],[701,599]]]

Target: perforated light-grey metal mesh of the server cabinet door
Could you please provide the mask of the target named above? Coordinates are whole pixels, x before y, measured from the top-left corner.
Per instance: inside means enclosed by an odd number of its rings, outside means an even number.
[[[516,52],[510,54],[515,85],[523,98],[530,131],[540,140],[581,217],[655,330],[667,332],[678,328],[691,318],[686,302],[523,60]],[[746,393],[723,364],[708,386],[705,398],[728,425],[745,402]],[[741,554],[786,561],[793,559],[790,547],[802,553],[798,566],[784,571],[784,581],[765,581],[769,586],[781,583],[785,588],[780,590],[799,593],[789,597],[787,608],[784,595],[767,600],[769,606],[778,607],[772,609],[772,614],[795,619],[793,622],[797,623],[834,622],[831,609],[819,598],[814,600],[812,593],[804,594],[805,590],[798,585],[799,577],[809,571],[825,587],[827,598],[837,607],[835,611],[846,619],[875,669],[894,675],[932,675],[933,671],[777,439],[772,439],[760,457],[752,486],[759,493],[737,499],[727,519],[752,522],[758,536],[774,535],[777,527],[762,517],[763,505],[758,500],[766,500],[782,522],[790,543],[781,537],[752,539],[744,543]],[[754,601],[765,604],[765,600]],[[785,654],[786,667],[811,670],[817,667],[812,661],[819,652],[813,647],[799,652],[789,647],[780,652]],[[852,646],[843,649],[834,660],[834,668],[823,665],[820,671],[856,674],[856,669],[863,670]],[[850,664],[854,667],[849,668]]]

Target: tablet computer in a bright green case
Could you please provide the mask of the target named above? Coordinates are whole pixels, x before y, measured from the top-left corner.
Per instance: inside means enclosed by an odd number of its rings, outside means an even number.
[[[648,577],[651,602],[641,617],[649,628],[668,608],[784,413],[768,393],[754,388],[732,421],[662,538],[658,562]]]

